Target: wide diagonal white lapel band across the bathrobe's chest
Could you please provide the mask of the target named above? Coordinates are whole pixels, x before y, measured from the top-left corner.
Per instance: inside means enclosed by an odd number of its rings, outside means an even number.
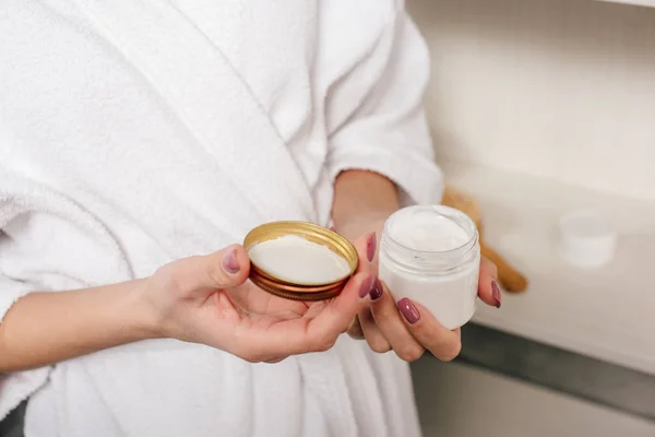
[[[315,221],[308,185],[270,117],[225,54],[192,22],[164,0],[121,1],[120,8],[102,0],[79,4],[212,152],[262,220]]]

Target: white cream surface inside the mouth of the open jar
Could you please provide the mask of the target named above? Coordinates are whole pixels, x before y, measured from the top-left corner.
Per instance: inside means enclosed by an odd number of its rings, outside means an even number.
[[[468,233],[446,216],[417,214],[407,222],[394,223],[390,236],[408,249],[442,252],[464,246],[471,240]]]

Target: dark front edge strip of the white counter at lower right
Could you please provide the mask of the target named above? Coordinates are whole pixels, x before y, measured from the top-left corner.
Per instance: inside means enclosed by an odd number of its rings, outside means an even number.
[[[462,342],[460,362],[655,421],[655,375],[477,323],[462,328]]]

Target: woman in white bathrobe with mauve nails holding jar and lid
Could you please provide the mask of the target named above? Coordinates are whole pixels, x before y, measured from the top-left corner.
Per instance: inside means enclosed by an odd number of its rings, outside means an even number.
[[[376,279],[386,216],[442,188],[404,7],[2,12],[0,417],[29,398],[28,437],[419,435],[402,359],[451,359],[460,333]],[[234,243],[273,220],[356,241],[340,297],[246,281]],[[493,277],[484,263],[480,296],[500,305]]]

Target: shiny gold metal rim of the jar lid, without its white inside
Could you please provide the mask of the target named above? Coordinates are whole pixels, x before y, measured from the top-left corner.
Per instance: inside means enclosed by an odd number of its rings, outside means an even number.
[[[248,233],[243,240],[243,247],[250,251],[259,243],[288,235],[296,235],[308,241],[325,246],[348,262],[348,274],[322,284],[294,283],[265,271],[251,260],[250,280],[271,294],[293,300],[323,300],[337,296],[357,270],[359,258],[350,241],[334,231],[309,222],[271,222]]]

